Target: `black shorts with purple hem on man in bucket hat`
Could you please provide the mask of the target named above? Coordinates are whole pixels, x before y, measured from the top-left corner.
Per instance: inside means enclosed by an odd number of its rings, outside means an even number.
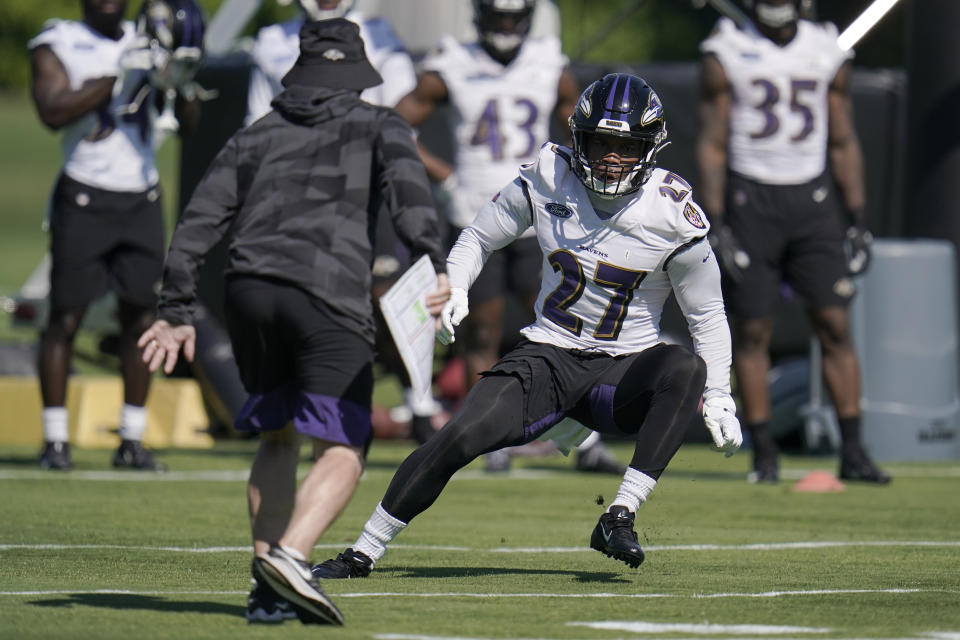
[[[240,379],[250,394],[238,431],[293,421],[300,433],[358,447],[373,435],[373,347],[326,305],[274,279],[230,276],[224,301]]]

